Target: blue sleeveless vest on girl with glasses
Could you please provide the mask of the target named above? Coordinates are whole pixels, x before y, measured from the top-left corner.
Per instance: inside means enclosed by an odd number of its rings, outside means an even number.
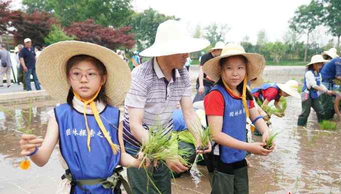
[[[120,152],[117,152],[116,155],[113,154],[94,115],[87,114],[90,129],[90,134],[88,134],[83,113],[78,112],[67,103],[55,107],[54,110],[59,126],[60,151],[69,166],[72,177],[77,180],[111,176],[120,161]],[[109,105],[100,113],[102,122],[115,144],[119,144],[117,135],[119,114],[117,108]],[[91,137],[90,152],[87,147],[88,135]],[[84,185],[84,187],[90,193],[112,193],[112,189],[105,189],[102,184]],[[75,187],[75,193],[88,192],[79,186]]]

